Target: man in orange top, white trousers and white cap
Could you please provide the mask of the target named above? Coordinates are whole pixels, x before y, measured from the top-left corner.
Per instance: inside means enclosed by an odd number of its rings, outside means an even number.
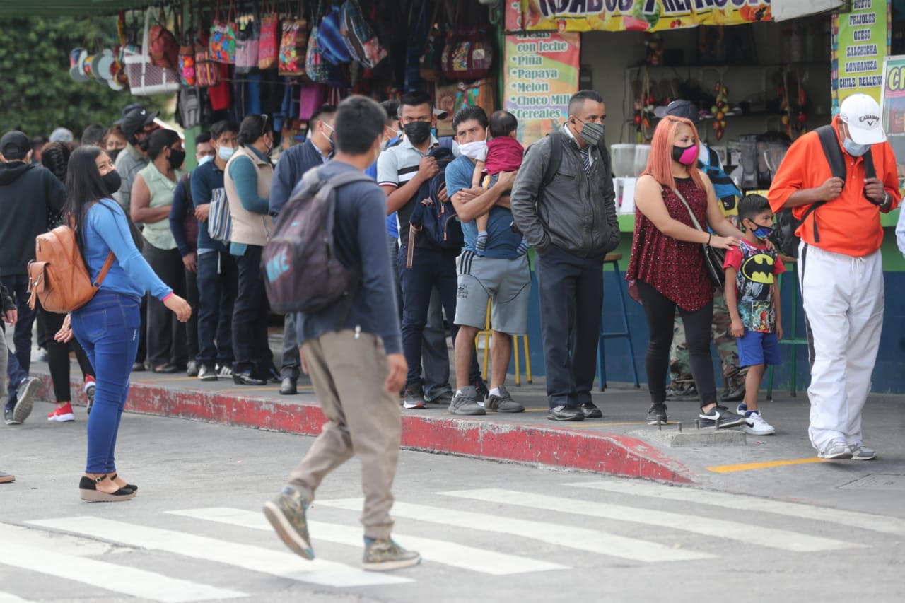
[[[769,192],[775,213],[792,209],[800,221],[798,279],[811,359],[808,434],[821,458],[876,456],[862,441],[861,416],[885,304],[880,213],[900,202],[880,115],[872,97],[846,98],[832,123],[835,144],[824,150],[816,131],[795,140]]]

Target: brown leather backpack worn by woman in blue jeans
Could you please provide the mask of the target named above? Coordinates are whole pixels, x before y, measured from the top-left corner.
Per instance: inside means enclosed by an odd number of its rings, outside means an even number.
[[[41,300],[44,310],[61,314],[90,302],[116,259],[110,252],[97,281],[91,282],[75,230],[68,225],[35,237],[34,254],[35,260],[28,263],[28,307],[34,309],[35,302]]]

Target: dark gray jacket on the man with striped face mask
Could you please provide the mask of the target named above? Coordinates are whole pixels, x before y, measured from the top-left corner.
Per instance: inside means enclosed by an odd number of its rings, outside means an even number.
[[[562,162],[556,177],[543,187],[550,160],[550,139],[562,139]],[[512,217],[538,254],[550,244],[579,257],[603,256],[619,245],[613,170],[608,154],[591,148],[590,174],[578,145],[562,129],[538,140],[529,149],[512,187]]]

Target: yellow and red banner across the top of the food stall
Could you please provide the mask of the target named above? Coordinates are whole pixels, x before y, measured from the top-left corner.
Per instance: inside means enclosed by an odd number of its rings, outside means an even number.
[[[661,32],[772,19],[770,0],[521,0],[527,30]]]

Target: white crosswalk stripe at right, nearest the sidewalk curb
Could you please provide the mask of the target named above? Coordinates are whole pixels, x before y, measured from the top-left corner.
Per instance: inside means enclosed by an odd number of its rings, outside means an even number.
[[[681,503],[710,504],[716,507],[725,507],[735,511],[767,512],[798,519],[815,520],[818,522],[830,522],[837,525],[847,525],[862,530],[879,531],[884,534],[905,536],[905,520],[898,517],[885,517],[862,513],[857,511],[843,511],[839,509],[827,509],[805,503],[785,503],[772,501],[766,498],[757,498],[748,494],[729,494],[695,490],[681,486],[666,486],[656,483],[624,483],[624,482],[575,482],[567,483],[567,486],[576,488],[589,488],[591,490],[603,490],[605,492],[627,494],[630,496],[653,496],[668,501]]]

